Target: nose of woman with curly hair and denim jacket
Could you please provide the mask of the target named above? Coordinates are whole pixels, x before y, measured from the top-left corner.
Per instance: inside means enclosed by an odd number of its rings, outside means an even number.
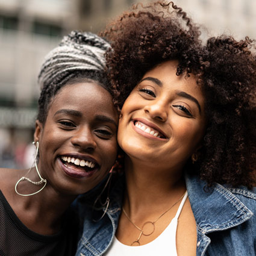
[[[152,119],[157,119],[161,122],[167,120],[167,106],[161,99],[149,102],[149,104],[145,106],[144,111],[148,113]]]

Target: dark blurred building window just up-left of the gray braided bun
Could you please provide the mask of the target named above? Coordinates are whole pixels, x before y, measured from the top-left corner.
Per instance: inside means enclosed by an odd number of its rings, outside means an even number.
[[[62,28],[58,25],[43,23],[36,20],[33,23],[33,33],[49,37],[61,37]]]

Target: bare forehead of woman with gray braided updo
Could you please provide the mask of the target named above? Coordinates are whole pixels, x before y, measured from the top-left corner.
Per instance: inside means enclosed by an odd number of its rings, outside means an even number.
[[[60,108],[72,108],[87,113],[108,112],[115,114],[112,98],[109,92],[97,83],[85,82],[67,84],[55,95],[49,113]]]

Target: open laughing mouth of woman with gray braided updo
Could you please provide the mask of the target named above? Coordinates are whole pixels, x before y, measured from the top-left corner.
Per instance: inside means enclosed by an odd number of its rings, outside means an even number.
[[[90,176],[98,170],[99,164],[90,157],[80,157],[73,155],[61,155],[59,157],[64,172],[75,178]]]

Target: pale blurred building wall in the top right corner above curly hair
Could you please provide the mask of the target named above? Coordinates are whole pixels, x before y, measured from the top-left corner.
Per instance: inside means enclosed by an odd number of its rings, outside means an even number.
[[[231,34],[237,39],[256,39],[255,0],[177,0],[196,23],[204,36]]]

